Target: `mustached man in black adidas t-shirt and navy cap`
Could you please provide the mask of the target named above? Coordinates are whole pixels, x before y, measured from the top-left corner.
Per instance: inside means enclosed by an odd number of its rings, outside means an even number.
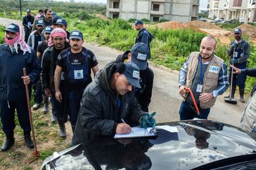
[[[96,75],[99,68],[93,52],[82,47],[82,32],[78,30],[72,31],[69,43],[71,47],[62,51],[56,60],[57,67],[54,74],[54,85],[56,100],[66,103],[65,105],[69,107],[69,121],[74,132],[83,91],[92,82],[91,70]],[[66,96],[66,101],[62,99],[62,93],[59,90],[62,71],[64,71],[64,95]]]

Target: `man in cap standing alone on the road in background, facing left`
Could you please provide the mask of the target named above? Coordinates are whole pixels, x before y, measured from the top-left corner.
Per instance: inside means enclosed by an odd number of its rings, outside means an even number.
[[[153,35],[150,32],[148,32],[146,28],[144,28],[142,20],[136,20],[136,22],[134,23],[134,27],[137,31],[139,31],[135,39],[135,44],[138,42],[143,42],[148,46],[148,49],[150,51],[150,42],[153,39]],[[150,59],[150,55],[148,59]]]

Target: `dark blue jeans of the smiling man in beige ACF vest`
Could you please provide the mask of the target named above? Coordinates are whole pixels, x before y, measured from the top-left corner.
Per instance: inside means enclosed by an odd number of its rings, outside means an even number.
[[[207,119],[209,113],[210,113],[210,108],[200,108],[200,106],[197,106],[200,115],[197,115],[197,112],[195,111],[195,106],[194,105],[189,105],[188,102],[182,102],[181,107],[179,108],[179,119],[180,120],[187,120],[187,119],[193,119],[193,118],[200,118],[200,119]]]

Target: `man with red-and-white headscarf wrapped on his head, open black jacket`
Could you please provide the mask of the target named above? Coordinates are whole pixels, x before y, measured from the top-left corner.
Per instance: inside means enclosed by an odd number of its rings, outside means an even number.
[[[41,85],[45,91],[45,95],[51,97],[50,101],[53,108],[53,116],[57,117],[59,123],[59,136],[66,137],[66,129],[64,123],[66,122],[66,106],[64,105],[64,73],[61,76],[60,91],[62,91],[62,102],[58,102],[55,98],[55,89],[54,89],[54,71],[56,68],[56,60],[58,55],[64,49],[67,49],[69,44],[67,39],[66,31],[61,28],[54,28],[51,31],[48,48],[43,53],[42,58],[42,71],[41,71]]]

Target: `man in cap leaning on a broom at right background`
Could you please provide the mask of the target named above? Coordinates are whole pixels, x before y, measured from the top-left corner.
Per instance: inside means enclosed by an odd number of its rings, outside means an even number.
[[[250,57],[250,44],[249,42],[242,39],[242,30],[240,28],[234,29],[235,40],[231,42],[228,47],[228,55],[230,56],[230,64],[236,68],[244,69],[247,67],[247,60]],[[234,55],[234,56],[233,56]],[[233,59],[234,58],[234,59]],[[229,83],[231,83],[232,68],[229,68]],[[233,75],[233,85],[231,98],[234,98],[236,92],[236,85],[239,86],[239,95],[242,103],[244,99],[244,88],[245,88],[246,75]],[[229,95],[226,96],[229,98]]]

